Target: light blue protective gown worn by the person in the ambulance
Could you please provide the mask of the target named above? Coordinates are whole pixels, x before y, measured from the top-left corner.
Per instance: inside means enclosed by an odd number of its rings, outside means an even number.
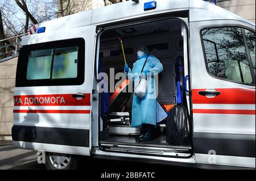
[[[141,73],[142,66],[147,58],[147,54],[138,57],[138,60],[133,64],[133,70],[129,69],[127,75],[134,85],[137,85],[139,74]],[[155,56],[148,56],[146,65],[143,71],[149,71],[147,74],[147,93],[144,98],[139,98],[134,94],[131,126],[142,127],[142,124],[156,125],[157,121],[157,104],[156,104],[156,89],[155,81],[152,73],[160,73],[163,71],[163,65]]]

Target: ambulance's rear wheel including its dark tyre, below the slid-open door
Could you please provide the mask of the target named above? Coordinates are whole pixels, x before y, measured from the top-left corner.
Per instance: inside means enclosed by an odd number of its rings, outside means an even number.
[[[48,170],[74,170],[77,168],[77,157],[71,154],[47,153],[46,168]]]

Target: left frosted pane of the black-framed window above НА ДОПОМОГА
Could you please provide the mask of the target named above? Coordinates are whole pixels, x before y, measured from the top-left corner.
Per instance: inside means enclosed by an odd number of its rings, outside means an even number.
[[[52,49],[31,51],[28,55],[27,79],[49,79],[51,77]]]

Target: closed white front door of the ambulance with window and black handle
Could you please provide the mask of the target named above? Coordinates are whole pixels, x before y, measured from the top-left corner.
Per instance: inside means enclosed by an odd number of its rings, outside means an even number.
[[[190,30],[196,162],[255,167],[255,27],[209,20]]]

